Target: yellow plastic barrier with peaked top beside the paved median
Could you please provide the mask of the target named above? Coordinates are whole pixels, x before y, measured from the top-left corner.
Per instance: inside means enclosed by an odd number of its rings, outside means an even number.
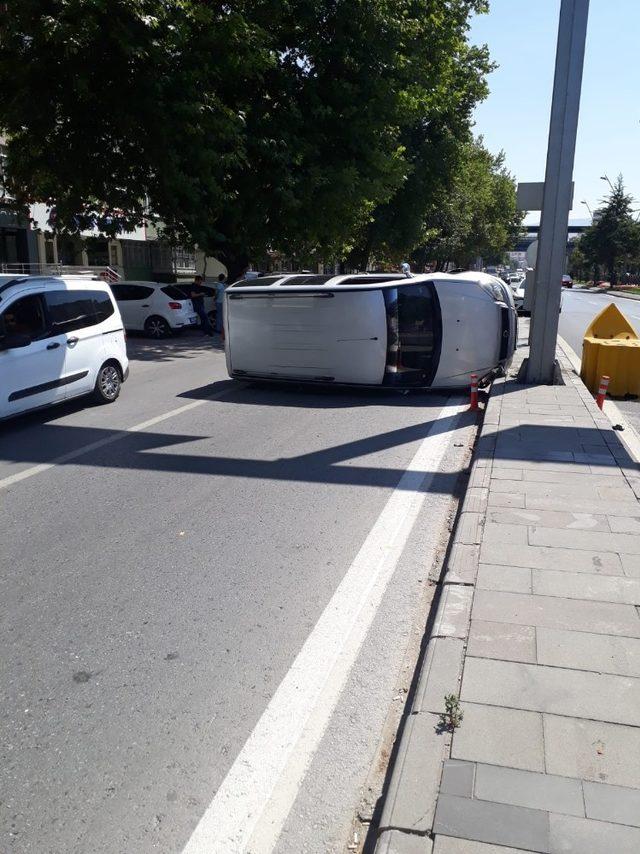
[[[609,394],[640,396],[640,339],[614,303],[593,318],[582,341],[580,376],[592,394],[605,374],[611,378]]]

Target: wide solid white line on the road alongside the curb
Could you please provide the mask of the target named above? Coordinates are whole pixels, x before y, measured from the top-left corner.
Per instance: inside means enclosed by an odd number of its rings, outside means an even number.
[[[183,854],[272,851],[467,408],[439,412]]]

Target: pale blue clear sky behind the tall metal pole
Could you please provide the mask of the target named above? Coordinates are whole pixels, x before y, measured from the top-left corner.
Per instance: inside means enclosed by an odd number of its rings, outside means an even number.
[[[476,108],[475,132],[517,181],[543,181],[560,0],[490,0],[470,41],[486,44],[499,67]],[[640,207],[640,0],[591,0],[570,221],[590,221],[622,173]],[[531,213],[525,222],[538,222]]]

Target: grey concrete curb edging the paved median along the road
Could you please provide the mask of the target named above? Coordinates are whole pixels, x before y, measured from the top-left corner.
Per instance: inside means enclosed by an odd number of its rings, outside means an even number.
[[[502,394],[506,378],[493,383],[471,461],[469,482],[440,578],[431,632],[419,664],[417,687],[399,736],[384,794],[376,854],[430,854],[431,830],[452,734],[439,726],[445,694],[460,694],[480,542],[487,510]]]

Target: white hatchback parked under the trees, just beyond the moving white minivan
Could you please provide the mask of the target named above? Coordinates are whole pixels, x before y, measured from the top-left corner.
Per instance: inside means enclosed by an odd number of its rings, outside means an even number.
[[[191,300],[177,285],[116,282],[111,290],[125,329],[144,330],[150,338],[167,338],[198,324]]]

